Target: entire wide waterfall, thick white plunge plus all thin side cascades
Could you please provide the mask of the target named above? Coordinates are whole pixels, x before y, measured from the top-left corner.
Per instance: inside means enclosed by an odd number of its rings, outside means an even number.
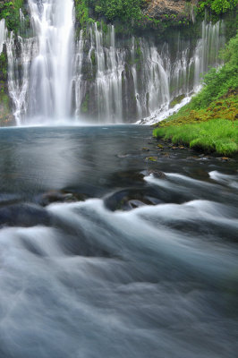
[[[174,44],[119,38],[98,23],[74,40],[72,0],[29,0],[32,36],[6,39],[8,86],[18,125],[48,122],[134,123],[163,117],[178,96],[200,88],[200,75],[220,64],[224,23],[203,21],[201,36]],[[0,25],[0,49],[4,42]],[[194,41],[193,41],[194,43]],[[162,114],[162,116],[161,116]]]

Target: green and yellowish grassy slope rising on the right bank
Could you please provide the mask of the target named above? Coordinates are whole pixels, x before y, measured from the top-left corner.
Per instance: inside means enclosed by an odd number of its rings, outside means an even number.
[[[160,123],[156,137],[221,154],[238,151],[238,34],[221,55],[224,66],[205,75],[200,93]]]

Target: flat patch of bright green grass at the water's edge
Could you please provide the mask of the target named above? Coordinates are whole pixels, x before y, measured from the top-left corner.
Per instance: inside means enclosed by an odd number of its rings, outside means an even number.
[[[234,155],[238,152],[238,121],[214,119],[199,124],[156,128],[153,135],[193,149]]]

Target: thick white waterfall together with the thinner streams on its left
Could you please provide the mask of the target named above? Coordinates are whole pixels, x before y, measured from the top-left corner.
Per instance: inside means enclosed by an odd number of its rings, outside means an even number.
[[[8,86],[17,124],[65,120],[72,107],[73,1],[28,0],[33,36],[7,40]],[[21,31],[25,29],[22,13]]]

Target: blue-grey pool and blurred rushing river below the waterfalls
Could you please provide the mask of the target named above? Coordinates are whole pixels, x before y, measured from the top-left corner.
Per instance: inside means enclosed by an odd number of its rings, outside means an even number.
[[[150,137],[0,131],[1,358],[236,356],[236,162]]]

